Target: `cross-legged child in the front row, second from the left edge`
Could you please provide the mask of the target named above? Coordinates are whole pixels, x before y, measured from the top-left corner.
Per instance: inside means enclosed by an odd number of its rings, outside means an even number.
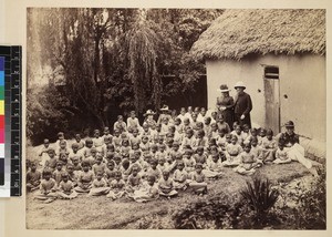
[[[49,168],[45,168],[42,173],[43,179],[40,183],[40,192],[34,195],[35,199],[44,200],[44,203],[52,203],[58,197],[58,187],[56,183],[52,176],[52,172]]]

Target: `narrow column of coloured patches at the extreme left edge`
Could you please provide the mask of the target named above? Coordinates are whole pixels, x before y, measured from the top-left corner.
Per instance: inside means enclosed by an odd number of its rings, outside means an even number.
[[[4,185],[4,56],[0,56],[0,185]]]

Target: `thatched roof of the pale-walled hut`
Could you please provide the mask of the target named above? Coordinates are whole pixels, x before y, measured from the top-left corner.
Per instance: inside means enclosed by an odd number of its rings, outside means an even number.
[[[191,48],[196,59],[325,54],[325,10],[226,10]]]

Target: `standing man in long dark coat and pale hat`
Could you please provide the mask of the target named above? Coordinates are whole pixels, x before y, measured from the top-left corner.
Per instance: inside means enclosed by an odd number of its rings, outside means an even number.
[[[245,92],[246,85],[243,82],[239,81],[234,86],[237,91],[237,96],[235,100],[235,121],[237,121],[241,126],[243,124],[249,125],[251,128],[250,111],[252,110],[252,102],[249,94]]]

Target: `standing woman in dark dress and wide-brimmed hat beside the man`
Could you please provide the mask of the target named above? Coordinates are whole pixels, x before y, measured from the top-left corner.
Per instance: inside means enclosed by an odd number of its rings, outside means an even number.
[[[217,97],[217,110],[224,116],[224,121],[228,123],[229,127],[232,127],[234,99],[229,95],[230,90],[226,84],[222,84],[217,91],[221,92],[221,96]]]

